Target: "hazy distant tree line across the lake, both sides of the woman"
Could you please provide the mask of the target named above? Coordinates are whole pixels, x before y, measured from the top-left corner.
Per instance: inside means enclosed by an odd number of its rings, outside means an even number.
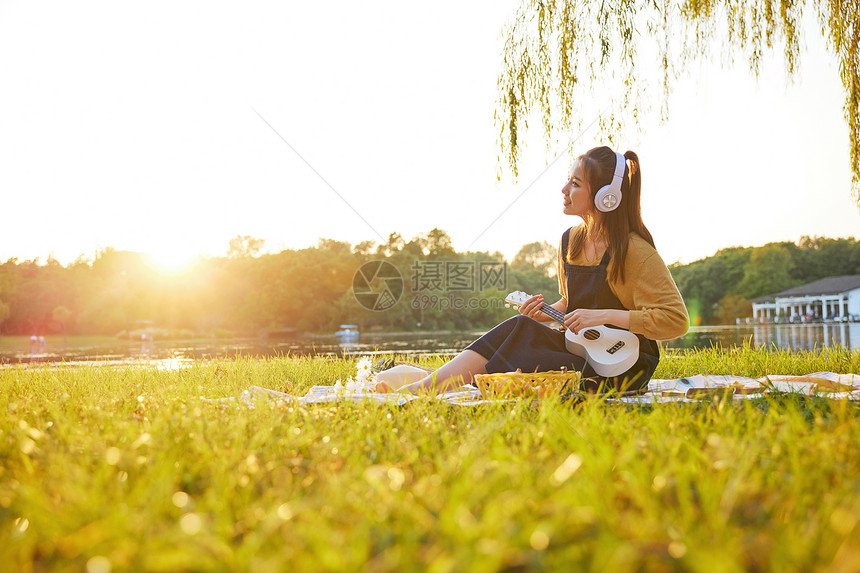
[[[341,323],[370,331],[479,330],[512,314],[503,304],[510,291],[558,296],[557,247],[546,242],[524,245],[510,262],[498,252],[457,252],[441,229],[409,241],[392,233],[384,244],[321,239],[265,254],[262,247],[236,237],[227,256],[172,274],[144,254],[110,248],[65,266],[10,259],[0,264],[0,334],[115,335],[155,326],[174,336],[257,336],[332,332]],[[389,263],[395,277],[375,276],[378,264],[363,266],[374,261]],[[693,324],[730,324],[750,315],[753,298],[860,274],[860,243],[803,237],[732,247],[670,270]],[[379,295],[376,308],[360,291],[371,302]]]

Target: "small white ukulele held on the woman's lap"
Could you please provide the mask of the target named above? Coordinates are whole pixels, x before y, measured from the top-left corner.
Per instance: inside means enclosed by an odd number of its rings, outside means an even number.
[[[519,308],[531,298],[522,291],[514,291],[505,297],[505,306]],[[542,313],[564,324],[564,313],[544,303]],[[594,368],[601,376],[619,376],[636,364],[639,359],[639,339],[629,330],[610,328],[605,325],[588,326],[578,334],[570,329],[564,331],[564,345],[571,354],[576,354]]]

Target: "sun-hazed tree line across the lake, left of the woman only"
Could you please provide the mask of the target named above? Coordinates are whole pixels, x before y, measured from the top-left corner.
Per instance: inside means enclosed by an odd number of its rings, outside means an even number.
[[[10,259],[0,264],[0,334],[114,335],[157,327],[170,336],[257,336],[332,332],[341,323],[482,329],[511,314],[503,305],[510,290],[558,292],[547,271],[556,257],[548,244],[524,247],[510,264],[498,252],[458,253],[440,229],[408,241],[393,233],[385,244],[321,239],[314,247],[261,254],[262,246],[236,237],[227,256],[198,259],[177,273],[163,272],[145,254],[111,248],[65,266],[51,258]],[[374,310],[352,287],[362,265],[379,260],[397,269],[402,288],[396,304]],[[502,275],[482,284],[479,273],[487,269]],[[365,286],[381,292],[386,284],[377,278]]]

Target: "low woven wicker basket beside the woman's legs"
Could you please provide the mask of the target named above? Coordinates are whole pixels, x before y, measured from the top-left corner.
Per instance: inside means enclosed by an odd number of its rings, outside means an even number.
[[[475,384],[485,399],[513,398],[517,396],[546,397],[579,389],[580,373],[576,370],[550,370],[548,372],[498,372],[475,374]]]

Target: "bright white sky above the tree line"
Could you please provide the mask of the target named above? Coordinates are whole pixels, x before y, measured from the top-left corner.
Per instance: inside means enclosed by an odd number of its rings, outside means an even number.
[[[518,3],[2,0],[0,261],[114,247],[178,262],[236,235],[274,252],[433,227],[508,258],[555,244],[576,222],[570,159],[524,192],[553,159],[534,132],[520,181],[496,181]],[[667,262],[858,236],[838,68],[814,28],[806,43],[794,85],[779,59],[757,80],[702,64],[667,124],[627,134]]]

